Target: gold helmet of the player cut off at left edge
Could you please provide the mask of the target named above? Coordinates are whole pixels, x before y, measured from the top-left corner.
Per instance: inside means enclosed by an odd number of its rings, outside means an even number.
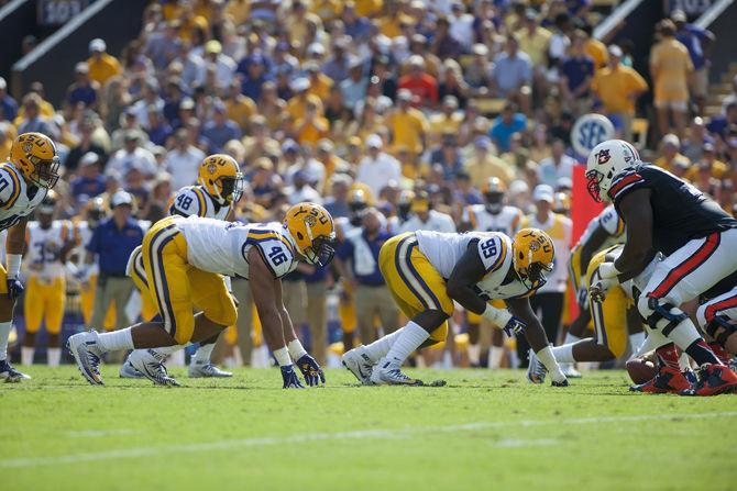
[[[56,186],[61,160],[56,145],[41,133],[22,133],[10,148],[10,161],[23,174],[26,181],[45,189]]]

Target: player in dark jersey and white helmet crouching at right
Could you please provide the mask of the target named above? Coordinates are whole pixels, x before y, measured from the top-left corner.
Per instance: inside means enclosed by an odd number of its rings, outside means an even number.
[[[601,280],[593,288],[605,293],[634,279],[637,309],[649,336],[660,339],[659,350],[675,353],[671,349],[675,344],[700,366],[693,387],[666,360],[652,380],[635,390],[654,386],[691,395],[736,390],[737,375],[719,362],[679,305],[737,270],[737,220],[690,183],[642,163],[637,150],[620,140],[594,147],[586,179],[591,196],[612,201],[629,231],[616,260],[598,266]],[[666,259],[657,260],[658,253]]]

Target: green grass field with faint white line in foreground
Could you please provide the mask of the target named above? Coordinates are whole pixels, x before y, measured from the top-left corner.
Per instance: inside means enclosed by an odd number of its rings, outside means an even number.
[[[90,387],[76,368],[33,367],[0,386],[0,489],[727,490],[733,395],[627,391],[622,371],[566,389],[519,371],[418,371],[443,388],[284,391],[273,370],[183,388]]]

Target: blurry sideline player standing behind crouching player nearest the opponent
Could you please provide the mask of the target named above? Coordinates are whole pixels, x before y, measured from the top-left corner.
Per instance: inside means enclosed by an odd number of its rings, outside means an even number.
[[[461,230],[475,232],[501,232],[513,237],[519,230],[522,211],[507,204],[507,186],[498,177],[491,177],[482,188],[484,204],[469,204],[463,210]],[[497,309],[504,308],[503,300],[493,302]],[[466,312],[469,330],[469,362],[479,366],[481,345],[479,344],[480,324],[483,319],[471,311]],[[504,336],[502,331],[492,332],[492,346],[488,351],[488,368],[499,368],[504,356]]]

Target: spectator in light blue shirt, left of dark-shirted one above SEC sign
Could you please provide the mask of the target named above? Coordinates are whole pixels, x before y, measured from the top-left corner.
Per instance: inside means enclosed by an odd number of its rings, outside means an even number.
[[[529,113],[532,63],[526,53],[519,51],[516,35],[507,38],[505,52],[494,58],[492,82],[495,94],[517,102],[525,114]]]

